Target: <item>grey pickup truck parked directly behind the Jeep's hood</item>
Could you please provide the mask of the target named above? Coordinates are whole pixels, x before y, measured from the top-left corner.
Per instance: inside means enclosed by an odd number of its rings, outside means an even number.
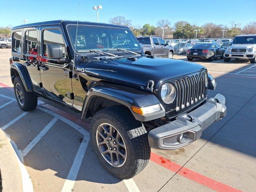
[[[172,58],[174,48],[160,37],[140,37],[137,38],[143,46],[144,53],[149,56]]]

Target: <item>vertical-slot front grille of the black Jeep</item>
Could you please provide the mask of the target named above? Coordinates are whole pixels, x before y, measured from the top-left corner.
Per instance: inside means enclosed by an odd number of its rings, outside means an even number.
[[[204,72],[176,80],[176,111],[184,109],[204,97]]]

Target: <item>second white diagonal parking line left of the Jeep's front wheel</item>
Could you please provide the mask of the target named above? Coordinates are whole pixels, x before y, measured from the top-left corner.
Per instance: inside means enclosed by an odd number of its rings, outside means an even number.
[[[30,152],[30,150],[38,143],[38,141],[40,141],[40,139],[46,134],[46,132],[48,132],[48,130],[50,130],[50,128],[56,123],[56,121],[58,120],[57,117],[54,117],[50,123],[48,123],[44,129],[32,140],[32,142],[30,142],[30,144],[28,144],[28,146],[26,146],[26,148],[24,148],[24,150],[22,150],[21,154],[22,156],[26,156],[26,154],[28,154],[28,152]]]

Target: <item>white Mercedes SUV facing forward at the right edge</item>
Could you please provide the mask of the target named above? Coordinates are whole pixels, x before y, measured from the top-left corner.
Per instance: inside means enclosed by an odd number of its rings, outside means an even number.
[[[230,59],[249,59],[256,63],[256,35],[238,35],[224,53],[224,62]]]

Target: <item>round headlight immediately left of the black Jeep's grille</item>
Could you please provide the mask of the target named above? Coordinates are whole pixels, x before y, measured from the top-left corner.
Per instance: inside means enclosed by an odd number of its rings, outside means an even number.
[[[170,83],[163,84],[161,88],[161,98],[166,104],[170,104],[176,97],[176,89]]]

